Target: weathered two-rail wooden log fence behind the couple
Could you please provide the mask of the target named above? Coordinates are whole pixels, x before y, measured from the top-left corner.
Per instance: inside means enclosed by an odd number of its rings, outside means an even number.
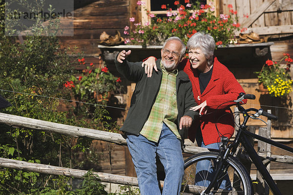
[[[121,134],[99,131],[95,129],[88,129],[70,125],[59,124],[55,122],[43,121],[38,119],[32,119],[27,117],[20,117],[15,115],[9,115],[0,113],[0,123],[6,125],[13,125],[18,127],[25,127],[34,130],[52,132],[57,134],[63,134],[71,137],[87,137],[97,140],[103,140],[107,142],[116,143],[119,145],[126,145],[126,140]],[[196,146],[185,146],[185,153],[189,154],[198,154],[202,152],[207,152],[206,148],[196,147]],[[260,156],[266,157],[266,154],[260,154]],[[275,158],[277,162],[284,162],[293,164],[293,156],[279,156],[272,155],[271,157]],[[69,169],[63,167],[56,167],[51,165],[37,164],[37,163],[29,163],[25,161],[12,160],[7,158],[0,158],[0,167],[4,168],[12,168],[23,171],[31,171],[38,172],[44,174],[52,174],[52,175],[63,175],[63,176],[73,176],[77,178],[81,178],[84,176],[86,171],[77,170],[77,169]],[[105,174],[100,172],[95,172],[101,181],[109,182],[109,183],[117,183],[123,185],[132,185],[138,186],[137,178],[130,176],[119,176],[113,174]],[[163,181],[161,182],[161,186],[164,185]],[[189,193],[195,193],[198,189],[196,186],[188,186],[187,187]]]

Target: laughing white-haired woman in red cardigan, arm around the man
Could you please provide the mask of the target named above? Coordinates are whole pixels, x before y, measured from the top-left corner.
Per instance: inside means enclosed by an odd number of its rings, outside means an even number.
[[[230,106],[244,90],[228,68],[213,56],[215,45],[210,35],[195,33],[187,43],[188,59],[182,60],[179,67],[188,74],[192,83],[194,99],[198,104],[192,110],[198,110],[201,115],[189,128],[188,138],[192,142],[196,139],[198,146],[219,149],[220,138],[230,138],[234,133]],[[154,57],[143,63],[149,77],[154,64]]]

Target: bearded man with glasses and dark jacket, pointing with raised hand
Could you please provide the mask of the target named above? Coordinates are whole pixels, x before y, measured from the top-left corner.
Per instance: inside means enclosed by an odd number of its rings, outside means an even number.
[[[115,65],[125,78],[136,82],[122,131],[135,166],[142,195],[161,195],[156,155],[165,170],[163,195],[179,195],[184,174],[181,143],[197,112],[188,75],[177,66],[186,47],[178,37],[167,39],[156,61],[158,72],[147,78],[142,62],[128,62],[122,51]]]

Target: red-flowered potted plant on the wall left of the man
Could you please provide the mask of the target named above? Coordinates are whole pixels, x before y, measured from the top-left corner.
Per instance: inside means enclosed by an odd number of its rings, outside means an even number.
[[[84,58],[78,61],[80,64],[85,63]],[[107,101],[112,92],[120,91],[120,82],[121,79],[110,73],[106,66],[93,68],[93,63],[90,63],[90,67],[83,70],[82,76],[71,76],[70,81],[64,85],[71,88],[81,100],[95,98],[97,101]]]

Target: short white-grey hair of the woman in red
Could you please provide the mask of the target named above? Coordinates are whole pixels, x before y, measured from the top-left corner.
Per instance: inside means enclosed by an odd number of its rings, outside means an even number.
[[[216,47],[215,39],[204,32],[197,32],[187,42],[187,49],[200,49],[204,53],[208,62],[213,60],[213,53]]]

